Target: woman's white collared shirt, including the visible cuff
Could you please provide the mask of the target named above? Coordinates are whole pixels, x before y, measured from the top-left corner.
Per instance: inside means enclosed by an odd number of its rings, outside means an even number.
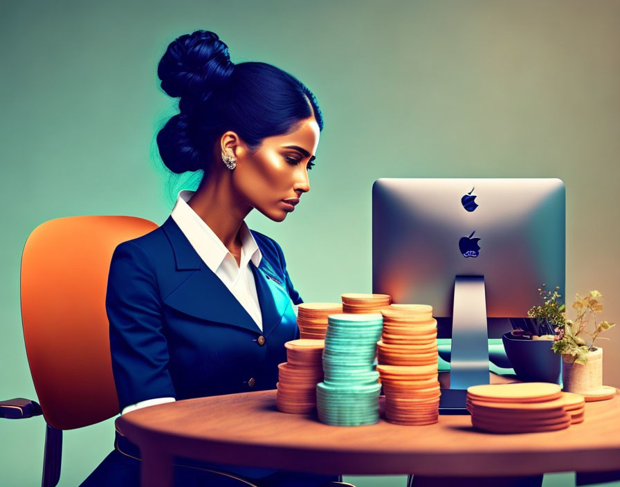
[[[170,216],[179,226],[183,235],[192,244],[200,258],[206,266],[212,270],[221,282],[226,285],[230,293],[235,296],[239,304],[244,307],[251,318],[256,322],[257,327],[262,331],[262,315],[254,274],[249,266],[250,261],[258,267],[262,259],[262,253],[250,233],[246,222],[241,223],[239,237],[241,237],[241,259],[237,265],[237,259],[228,251],[228,248],[215,235],[201,217],[198,216],[188,201],[194,195],[194,191],[182,190],[176,198],[174,208]],[[147,399],[139,403],[123,408],[120,414],[133,411],[139,407],[153,406],[156,404],[170,403],[173,397],[162,397]]]

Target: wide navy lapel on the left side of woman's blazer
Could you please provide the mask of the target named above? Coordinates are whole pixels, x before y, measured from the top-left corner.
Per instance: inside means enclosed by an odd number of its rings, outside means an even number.
[[[188,277],[180,282],[179,286],[174,288],[172,293],[164,298],[163,302],[181,311],[181,313],[192,315],[202,320],[231,324],[235,327],[261,333],[255,321],[241,306],[241,303],[237,301],[233,293],[202,261],[172,217],[168,217],[163,223],[162,228],[174,250],[176,274],[183,276],[175,276],[176,279],[183,279],[188,275],[188,270],[194,270],[193,273],[189,273]],[[257,283],[257,291],[258,287]],[[265,296],[262,301],[264,300]],[[263,307],[262,301],[260,303],[261,309]],[[268,316],[272,313],[273,311],[270,311]],[[265,315],[263,311],[264,322]]]

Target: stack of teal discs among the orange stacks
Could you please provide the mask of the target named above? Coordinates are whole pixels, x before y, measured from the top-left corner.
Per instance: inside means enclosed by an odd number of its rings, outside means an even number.
[[[322,361],[325,378],[316,385],[316,408],[322,423],[369,425],[379,421],[379,372],[376,342],[381,314],[329,315]]]

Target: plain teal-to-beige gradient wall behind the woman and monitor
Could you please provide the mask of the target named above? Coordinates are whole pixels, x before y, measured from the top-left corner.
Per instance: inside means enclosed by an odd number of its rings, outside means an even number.
[[[29,233],[85,214],[161,224],[168,190],[191,187],[158,169],[156,131],[176,100],[156,68],[197,28],[233,62],[299,77],[320,103],[311,192],[283,223],[248,217],[281,244],[304,300],[371,291],[377,178],[559,177],[567,295],[599,289],[603,318],[620,320],[620,1],[14,1],[0,27],[0,399],[36,398],[19,309]],[[620,327],[605,334],[604,383],[620,387]],[[0,421],[0,485],[39,484],[43,440],[41,417]],[[113,419],[66,432],[60,486],[112,446]],[[572,485],[570,473],[545,477]]]

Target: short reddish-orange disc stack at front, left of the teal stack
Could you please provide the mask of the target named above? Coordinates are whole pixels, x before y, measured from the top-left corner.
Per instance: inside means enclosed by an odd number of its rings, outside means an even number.
[[[284,347],[287,361],[277,366],[275,405],[282,412],[311,412],[316,407],[316,385],[323,380],[325,340],[292,340]]]

